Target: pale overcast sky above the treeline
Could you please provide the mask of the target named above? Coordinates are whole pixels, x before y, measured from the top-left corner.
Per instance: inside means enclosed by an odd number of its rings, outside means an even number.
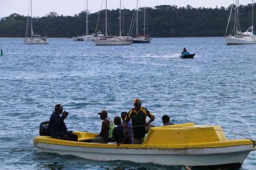
[[[88,0],[88,11],[91,13],[105,9],[106,0]],[[255,0],[256,1],[256,0]],[[0,0],[0,17],[6,17],[13,13],[27,16],[28,5],[30,0]],[[176,5],[178,7],[186,7],[191,5],[193,8],[227,8],[233,0],[139,0],[138,6],[152,7],[157,5]],[[243,5],[252,4],[252,0],[240,0]],[[107,0],[108,9],[120,8],[120,0]],[[136,0],[121,0],[121,8],[136,8]],[[86,10],[86,0],[32,0],[33,16],[45,16],[49,12],[56,12],[58,15],[70,15],[80,13]]]

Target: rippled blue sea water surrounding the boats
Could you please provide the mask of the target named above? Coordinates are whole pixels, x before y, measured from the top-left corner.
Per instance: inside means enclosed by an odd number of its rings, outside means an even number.
[[[228,138],[256,139],[255,44],[227,46],[223,37],[153,38],[129,46],[48,42],[0,38],[0,169],[185,170],[38,153],[32,140],[58,103],[70,113],[65,123],[73,131],[99,133],[100,110],[113,119],[138,97],[156,126],[167,114],[175,124],[218,124]],[[194,59],[179,58],[184,47]],[[252,151],[241,170],[255,168]]]

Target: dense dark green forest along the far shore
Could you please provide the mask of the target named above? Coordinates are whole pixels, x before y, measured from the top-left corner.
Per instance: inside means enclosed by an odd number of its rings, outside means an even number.
[[[256,6],[256,4],[254,4]],[[232,5],[228,8],[192,8],[175,5],[160,5],[154,8],[139,8],[138,33],[152,37],[214,37],[223,36]],[[234,7],[233,7],[234,8]],[[144,24],[145,13],[145,24]],[[119,35],[120,10],[108,10],[108,35]],[[121,31],[123,35],[135,36],[134,10],[121,10]],[[252,22],[252,4],[239,6],[240,26],[243,31]],[[256,18],[256,17],[255,17]],[[0,21],[0,37],[24,37],[27,16],[12,14]],[[97,24],[98,23],[98,24]],[[88,14],[88,32],[105,30],[105,12]],[[86,12],[74,16],[50,12],[44,17],[33,17],[34,34],[48,37],[72,37],[86,34]],[[131,33],[132,32],[132,33]]]

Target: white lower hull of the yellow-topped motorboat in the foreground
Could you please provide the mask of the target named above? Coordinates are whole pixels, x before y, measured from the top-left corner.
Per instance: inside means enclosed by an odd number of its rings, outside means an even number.
[[[252,145],[203,149],[100,148],[48,143],[35,143],[35,146],[38,148],[38,152],[75,155],[99,161],[129,160],[137,163],[151,162],[167,166],[221,166],[226,164],[241,166],[253,149]]]

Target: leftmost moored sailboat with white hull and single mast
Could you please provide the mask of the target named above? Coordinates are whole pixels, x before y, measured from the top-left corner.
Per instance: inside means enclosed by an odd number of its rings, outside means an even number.
[[[47,42],[47,37],[45,35],[35,35],[33,33],[33,28],[32,28],[32,0],[30,2],[30,6],[31,6],[31,16],[28,15],[28,19],[27,19],[27,26],[26,26],[26,33],[25,33],[25,39],[24,42],[25,44],[48,44]],[[30,20],[30,30],[31,30],[31,37],[28,37],[28,29],[29,29],[29,19]]]

